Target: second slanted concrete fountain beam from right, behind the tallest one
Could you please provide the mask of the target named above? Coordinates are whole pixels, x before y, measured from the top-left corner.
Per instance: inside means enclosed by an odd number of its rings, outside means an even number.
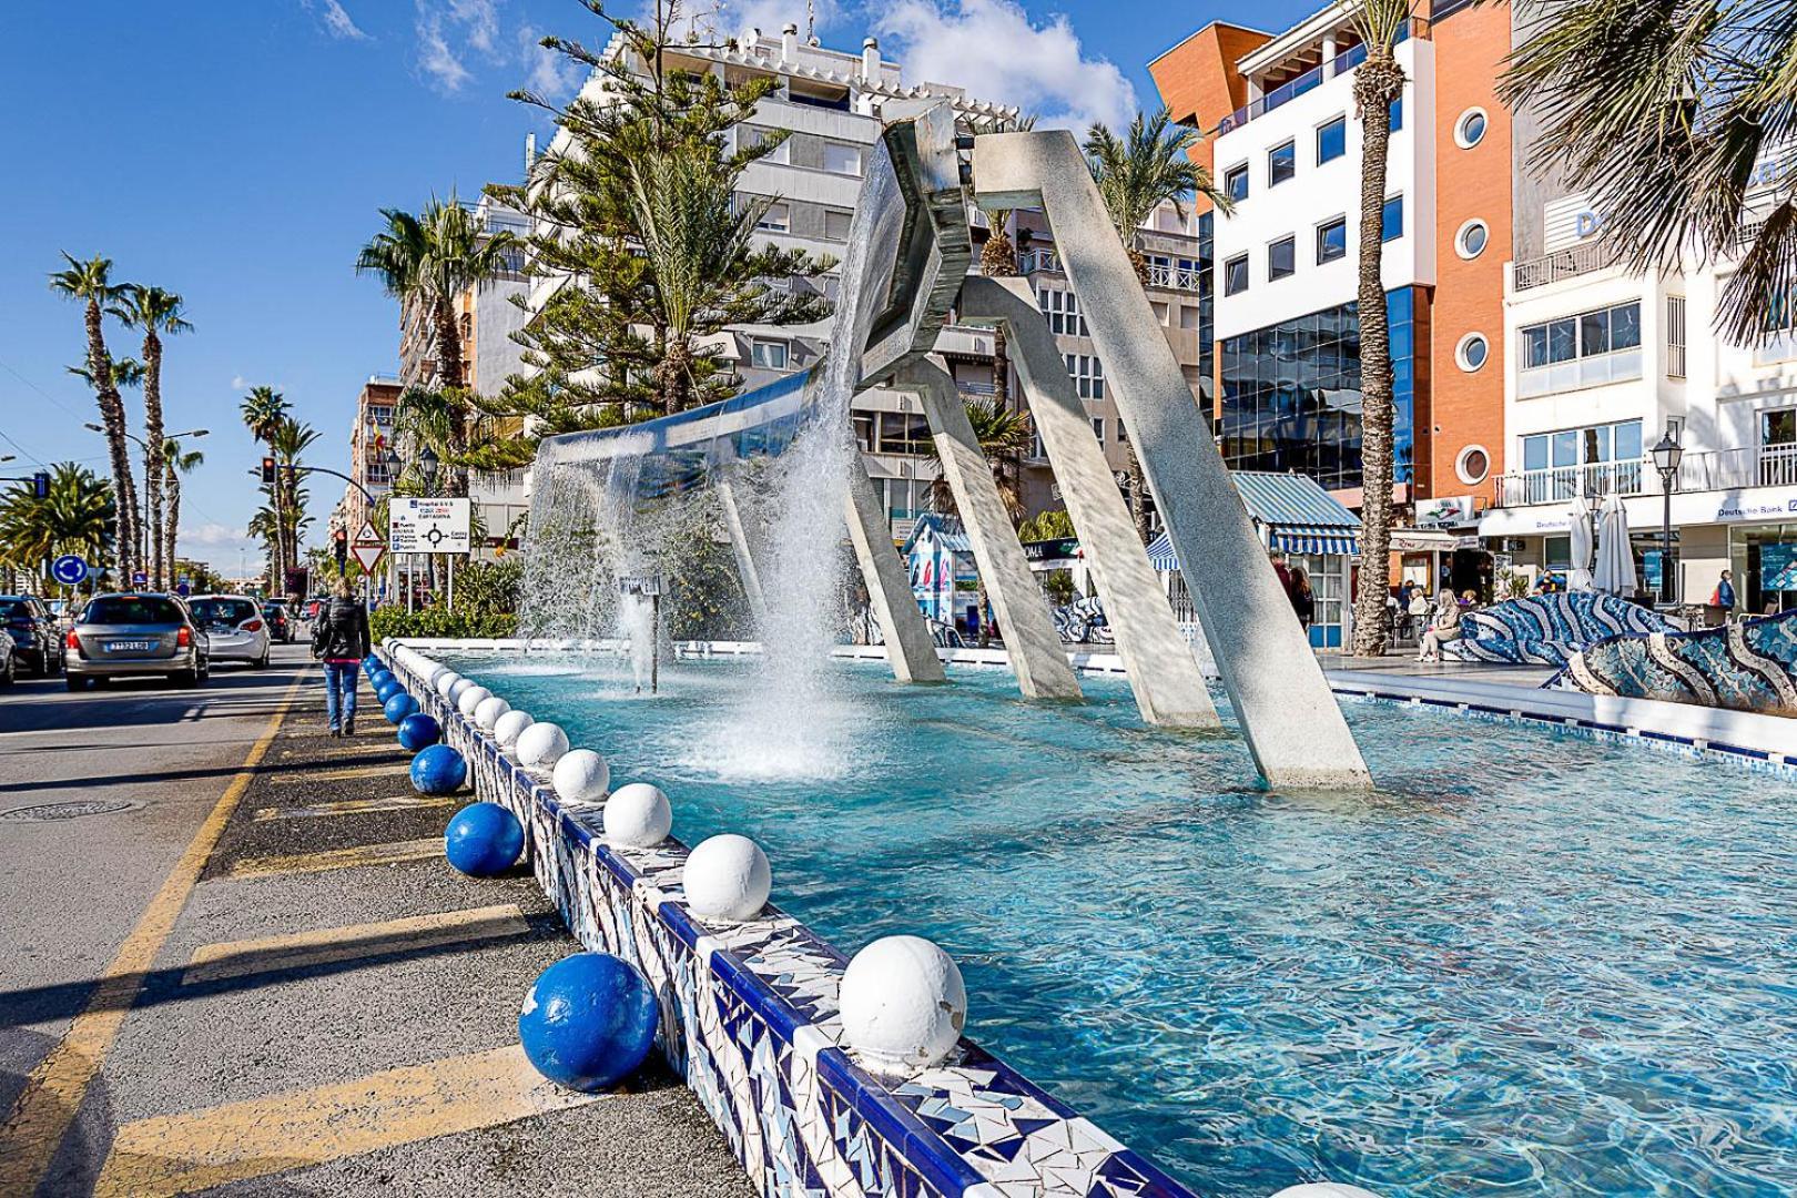
[[[969,278],[961,287],[960,318],[969,325],[1005,327],[1010,361],[1017,366],[1035,431],[1055,465],[1067,515],[1098,582],[1098,598],[1111,620],[1141,718],[1173,727],[1217,727],[1220,720],[1204,688],[1204,674],[1136,537],[1136,523],[1123,505],[1105,451],[1093,436],[1085,404],[1073,390],[1060,347],[1030,284],[1022,278]]]

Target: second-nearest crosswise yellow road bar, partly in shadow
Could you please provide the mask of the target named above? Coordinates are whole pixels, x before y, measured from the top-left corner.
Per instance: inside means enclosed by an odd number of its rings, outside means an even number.
[[[354,961],[408,948],[435,948],[476,939],[500,939],[528,932],[525,914],[516,903],[476,907],[473,911],[442,911],[406,920],[327,927],[314,932],[288,932],[257,939],[232,939],[201,945],[194,950],[181,984],[216,982],[225,977],[266,973],[270,970],[297,970],[331,961]]]

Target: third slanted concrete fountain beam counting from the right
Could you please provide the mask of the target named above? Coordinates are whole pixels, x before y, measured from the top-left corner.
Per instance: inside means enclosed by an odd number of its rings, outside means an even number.
[[[1080,681],[1067,665],[1048,600],[1030,573],[954,379],[934,363],[916,361],[898,370],[893,388],[915,393],[924,404],[942,476],[954,492],[979,578],[1005,634],[1017,690],[1024,699],[1080,699]]]

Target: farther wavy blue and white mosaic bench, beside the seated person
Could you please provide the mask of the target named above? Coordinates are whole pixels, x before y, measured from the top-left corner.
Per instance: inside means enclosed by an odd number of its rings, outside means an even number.
[[[1456,661],[1563,666],[1572,654],[1612,636],[1677,632],[1655,611],[1596,591],[1504,600],[1461,620],[1461,636],[1441,647]]]

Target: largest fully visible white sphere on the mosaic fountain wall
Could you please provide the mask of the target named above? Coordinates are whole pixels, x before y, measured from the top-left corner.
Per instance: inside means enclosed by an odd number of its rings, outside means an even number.
[[[940,1063],[967,1024],[967,986],[954,957],[922,936],[882,936],[843,972],[843,1035],[870,1067],[898,1072]]]

